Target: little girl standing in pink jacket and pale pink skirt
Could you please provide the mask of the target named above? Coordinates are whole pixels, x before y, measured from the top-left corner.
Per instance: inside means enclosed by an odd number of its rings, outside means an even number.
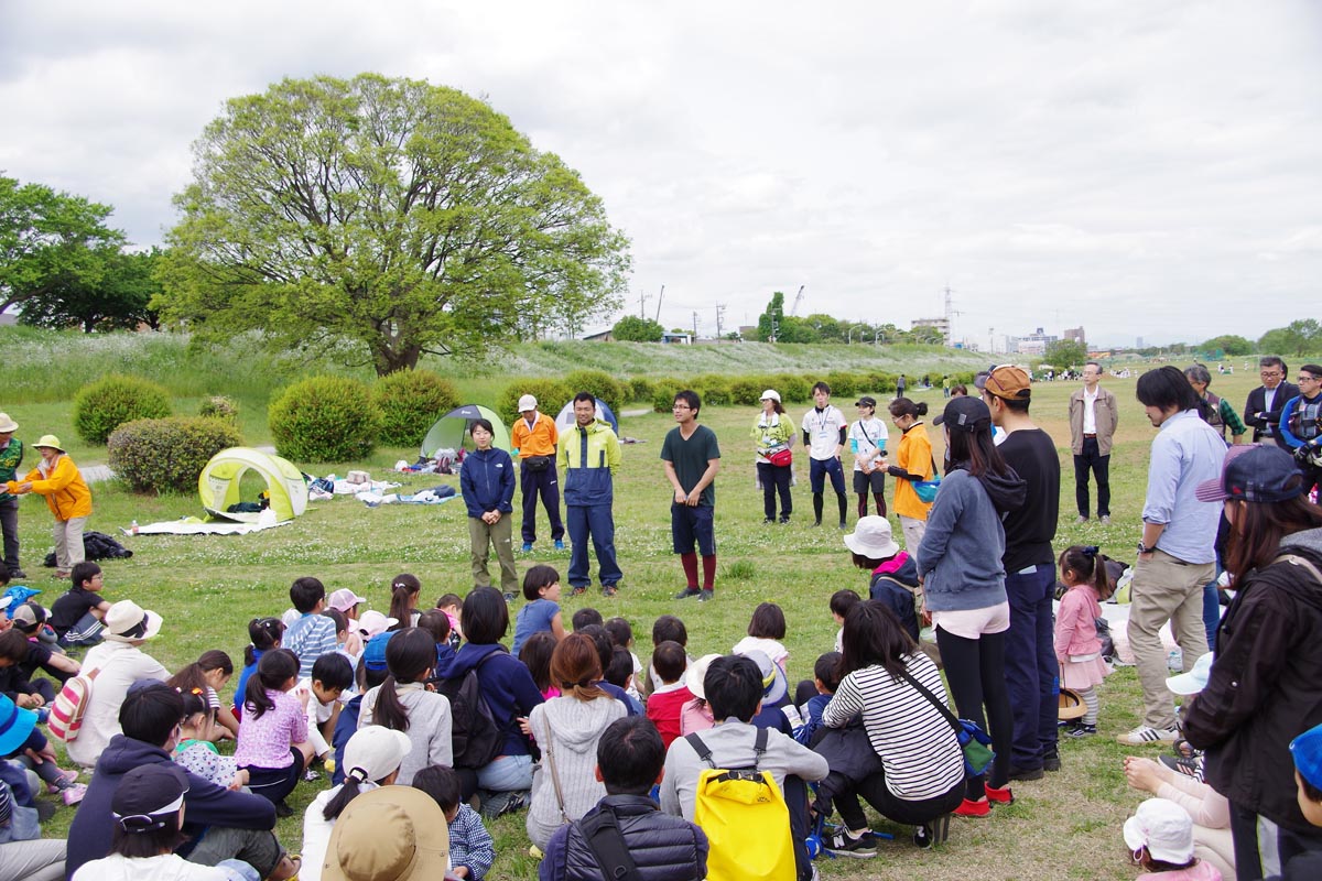
[[[1079,692],[1088,712],[1069,724],[1066,733],[1087,737],[1097,733],[1097,691],[1095,686],[1110,675],[1110,666],[1101,656],[1097,618],[1101,601],[1114,585],[1096,546],[1073,546],[1060,555],[1060,581],[1068,588],[1056,612],[1056,660],[1060,662],[1060,686]]]

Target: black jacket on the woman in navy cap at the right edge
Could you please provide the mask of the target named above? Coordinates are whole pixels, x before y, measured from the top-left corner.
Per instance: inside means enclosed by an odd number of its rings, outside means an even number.
[[[1289,535],[1281,553],[1322,569],[1322,530]],[[1296,802],[1290,741],[1322,724],[1322,584],[1301,567],[1251,572],[1216,631],[1207,687],[1185,719],[1207,750],[1207,782],[1276,824],[1317,832]]]

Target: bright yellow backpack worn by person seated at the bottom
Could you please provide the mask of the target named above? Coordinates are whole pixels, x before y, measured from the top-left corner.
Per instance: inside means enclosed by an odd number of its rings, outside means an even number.
[[[795,881],[789,806],[769,771],[758,770],[767,729],[758,729],[752,767],[717,767],[697,734],[685,737],[710,765],[698,774],[693,822],[707,835],[707,881]]]

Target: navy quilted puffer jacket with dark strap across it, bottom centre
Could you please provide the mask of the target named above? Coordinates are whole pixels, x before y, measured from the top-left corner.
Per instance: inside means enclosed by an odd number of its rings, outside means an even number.
[[[646,795],[607,795],[620,822],[624,844],[642,881],[698,881],[707,877],[707,836],[681,816],[662,814]],[[584,815],[600,810],[594,807]],[[574,823],[562,827],[546,845],[538,878],[542,881],[600,881],[602,869]]]

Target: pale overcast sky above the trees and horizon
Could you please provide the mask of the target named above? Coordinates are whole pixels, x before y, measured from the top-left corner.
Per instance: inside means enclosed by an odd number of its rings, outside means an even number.
[[[1257,337],[1317,314],[1322,4],[0,0],[0,172],[175,221],[225,99],[361,71],[485,96],[632,238],[627,310],[703,334]]]

